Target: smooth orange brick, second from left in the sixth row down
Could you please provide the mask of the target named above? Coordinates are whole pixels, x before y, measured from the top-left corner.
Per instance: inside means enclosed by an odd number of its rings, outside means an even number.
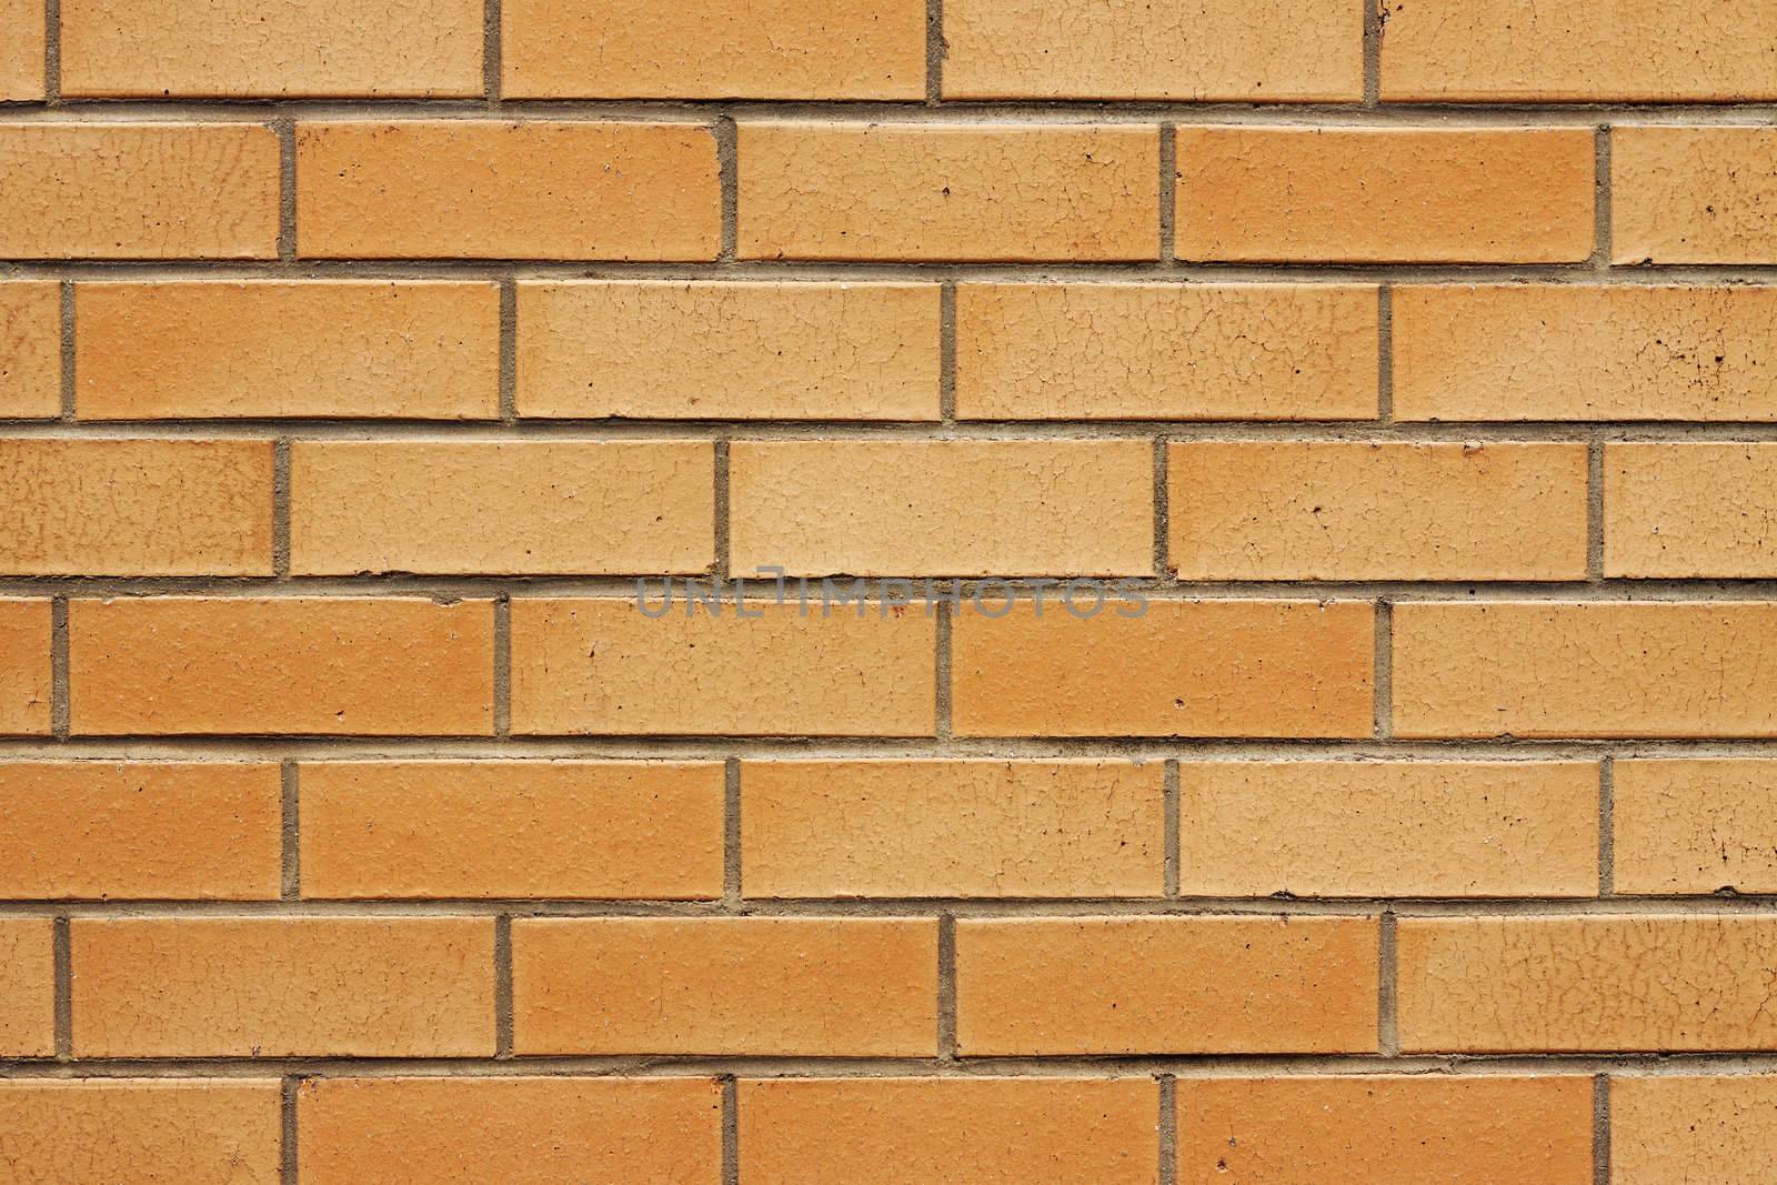
[[[718,762],[304,762],[299,775],[304,897],[721,895]]]

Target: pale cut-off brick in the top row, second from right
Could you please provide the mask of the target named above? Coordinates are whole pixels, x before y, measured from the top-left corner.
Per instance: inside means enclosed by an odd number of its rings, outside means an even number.
[[[1363,9],[1343,0],[949,0],[947,99],[1356,103]]]

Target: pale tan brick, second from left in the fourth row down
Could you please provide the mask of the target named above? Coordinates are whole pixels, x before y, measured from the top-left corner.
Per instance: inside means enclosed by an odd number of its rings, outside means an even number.
[[[714,464],[707,441],[299,441],[290,567],[707,572]]]

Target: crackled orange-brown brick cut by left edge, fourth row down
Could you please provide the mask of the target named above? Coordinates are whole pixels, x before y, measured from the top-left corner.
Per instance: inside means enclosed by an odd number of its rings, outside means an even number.
[[[0,441],[0,572],[270,576],[270,441]]]

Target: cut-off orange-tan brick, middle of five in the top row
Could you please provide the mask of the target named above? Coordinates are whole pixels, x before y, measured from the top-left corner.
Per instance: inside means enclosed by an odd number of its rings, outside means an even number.
[[[506,0],[510,99],[924,99],[922,0]]]

